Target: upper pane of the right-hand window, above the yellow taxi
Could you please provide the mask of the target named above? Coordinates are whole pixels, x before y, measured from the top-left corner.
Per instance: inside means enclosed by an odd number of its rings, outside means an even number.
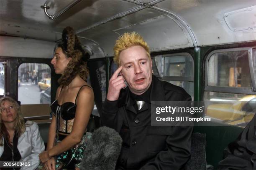
[[[218,52],[208,62],[207,85],[251,87],[248,51]]]

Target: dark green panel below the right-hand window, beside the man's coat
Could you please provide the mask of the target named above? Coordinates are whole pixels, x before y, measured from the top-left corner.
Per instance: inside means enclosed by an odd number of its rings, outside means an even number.
[[[206,134],[206,160],[207,164],[217,168],[220,160],[223,160],[223,151],[230,142],[238,138],[243,128],[233,125],[218,125],[212,123],[209,126],[195,126],[194,133]]]

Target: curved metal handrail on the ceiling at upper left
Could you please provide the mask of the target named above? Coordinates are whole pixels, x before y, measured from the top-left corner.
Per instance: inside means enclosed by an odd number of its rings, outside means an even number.
[[[74,5],[76,5],[80,1],[81,0],[74,0],[73,2],[70,2],[69,5],[67,5],[66,7],[64,7],[62,10],[60,10],[59,12],[57,12],[54,15],[49,15],[49,13],[47,12],[47,10],[50,9],[50,7],[47,5],[50,2],[49,0],[46,0],[44,5],[41,5],[41,8],[44,9],[44,13],[45,13],[45,15],[47,15],[49,17],[49,19],[56,20],[56,18],[58,18],[60,15],[65,13],[67,10],[69,10],[71,7],[73,7]]]

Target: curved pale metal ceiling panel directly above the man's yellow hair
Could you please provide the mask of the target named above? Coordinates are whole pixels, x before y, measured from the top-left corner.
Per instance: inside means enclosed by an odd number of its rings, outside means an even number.
[[[193,47],[187,30],[175,18],[168,15],[161,16],[163,14],[165,13],[146,8],[79,35],[95,40],[108,56],[113,56],[115,40],[125,31],[137,31],[143,35],[151,51]],[[115,33],[115,30],[119,31]]]

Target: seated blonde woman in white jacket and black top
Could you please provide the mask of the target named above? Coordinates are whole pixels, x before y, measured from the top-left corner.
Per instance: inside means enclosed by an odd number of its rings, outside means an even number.
[[[34,170],[40,163],[38,154],[43,151],[44,142],[36,122],[23,119],[15,100],[0,98],[0,161],[22,161],[26,165],[21,170]]]

